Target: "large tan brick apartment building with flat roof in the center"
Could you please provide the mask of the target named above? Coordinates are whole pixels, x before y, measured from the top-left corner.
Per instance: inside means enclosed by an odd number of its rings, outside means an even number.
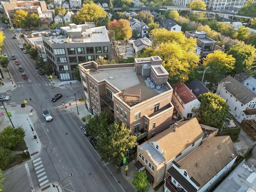
[[[87,110],[106,110],[126,124],[137,140],[149,139],[170,127],[174,106],[168,72],[159,56],[136,58],[134,63],[79,64]]]

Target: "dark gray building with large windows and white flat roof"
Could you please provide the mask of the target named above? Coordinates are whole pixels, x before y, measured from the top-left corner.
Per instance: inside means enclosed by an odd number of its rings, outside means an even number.
[[[80,63],[110,58],[110,40],[105,26],[69,24],[60,33],[42,35],[47,60],[61,81],[76,80],[74,68]]]

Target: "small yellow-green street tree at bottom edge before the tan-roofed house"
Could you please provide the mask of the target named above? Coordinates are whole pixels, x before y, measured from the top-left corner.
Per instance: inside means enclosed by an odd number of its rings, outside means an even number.
[[[134,178],[132,181],[132,184],[135,186],[136,190],[138,192],[148,192],[149,188],[149,182],[148,182],[148,176],[146,174],[146,171],[143,170],[139,173],[134,173]]]

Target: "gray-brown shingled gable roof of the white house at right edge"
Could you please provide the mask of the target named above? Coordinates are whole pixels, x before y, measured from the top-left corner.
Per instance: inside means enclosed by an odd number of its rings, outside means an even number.
[[[256,94],[243,86],[240,82],[238,82],[230,75],[221,80],[218,83],[219,86],[222,82],[230,82],[224,84],[225,89],[230,92],[230,94],[232,94],[234,97],[236,97],[242,104],[248,104],[250,101],[256,98]]]

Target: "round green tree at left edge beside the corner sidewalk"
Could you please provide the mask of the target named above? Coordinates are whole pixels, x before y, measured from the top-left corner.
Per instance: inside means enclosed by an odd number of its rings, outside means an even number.
[[[15,129],[12,126],[7,126],[0,132],[0,146],[6,149],[15,148],[24,141],[25,135],[21,126]]]

